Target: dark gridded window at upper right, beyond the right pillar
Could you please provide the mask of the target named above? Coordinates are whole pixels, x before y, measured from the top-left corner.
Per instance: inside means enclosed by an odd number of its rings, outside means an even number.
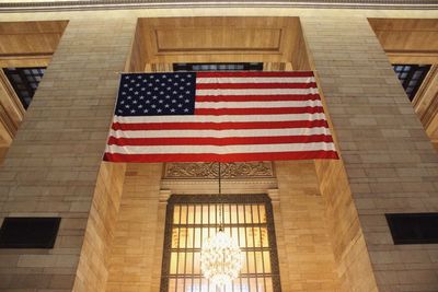
[[[412,102],[429,71],[430,65],[393,65],[393,68]]]

